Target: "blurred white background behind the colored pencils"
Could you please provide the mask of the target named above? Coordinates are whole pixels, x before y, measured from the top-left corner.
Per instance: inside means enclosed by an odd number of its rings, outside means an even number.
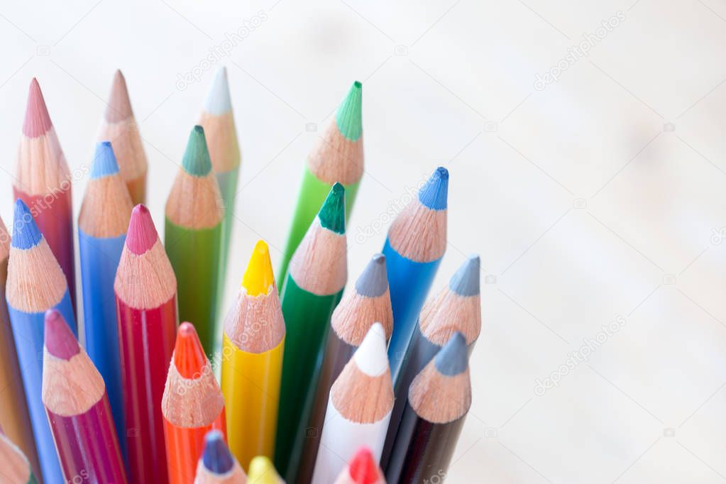
[[[383,245],[381,214],[437,164],[451,185],[433,290],[482,258],[474,400],[447,480],[724,482],[726,2],[3,0],[4,221],[30,78],[78,168],[120,67],[163,226],[216,67],[200,62],[263,16],[222,60],[242,146],[227,302],[258,238],[277,267],[303,160],[358,79],[351,277]]]

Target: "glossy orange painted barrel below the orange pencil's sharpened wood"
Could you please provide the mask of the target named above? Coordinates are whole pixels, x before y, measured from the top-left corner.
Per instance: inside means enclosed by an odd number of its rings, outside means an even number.
[[[164,421],[164,435],[166,435],[168,482],[169,484],[193,483],[197,473],[197,462],[204,449],[204,436],[210,430],[224,432],[224,409],[214,422],[203,427],[177,427],[166,418],[161,418]]]

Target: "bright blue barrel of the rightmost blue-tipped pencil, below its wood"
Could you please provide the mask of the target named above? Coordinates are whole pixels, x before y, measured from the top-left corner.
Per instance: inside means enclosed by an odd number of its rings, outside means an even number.
[[[415,262],[396,252],[386,239],[383,247],[388,266],[388,288],[393,308],[393,335],[388,345],[391,377],[395,382],[403,364],[406,348],[416,324],[418,313],[431,289],[441,259]]]

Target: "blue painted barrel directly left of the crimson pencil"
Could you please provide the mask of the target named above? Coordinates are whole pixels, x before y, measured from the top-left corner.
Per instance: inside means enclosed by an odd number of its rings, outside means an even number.
[[[78,229],[83,289],[83,332],[86,352],[106,384],[121,453],[126,458],[126,426],[123,423],[121,361],[118,356],[118,324],[113,282],[126,235],[91,237]]]

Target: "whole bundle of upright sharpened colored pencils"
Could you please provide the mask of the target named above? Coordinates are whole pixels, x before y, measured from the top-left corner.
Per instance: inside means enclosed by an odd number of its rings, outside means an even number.
[[[121,72],[90,169],[73,175],[30,83],[12,231],[0,221],[0,483],[442,475],[471,404],[468,356],[481,332],[478,256],[425,302],[446,248],[449,172],[421,184],[346,292],[346,218],[364,173],[356,81],[306,159],[277,284],[258,240],[221,318],[224,276],[238,270],[227,261],[240,171],[224,67],[198,123],[153,218]],[[88,175],[77,231],[76,172]]]

